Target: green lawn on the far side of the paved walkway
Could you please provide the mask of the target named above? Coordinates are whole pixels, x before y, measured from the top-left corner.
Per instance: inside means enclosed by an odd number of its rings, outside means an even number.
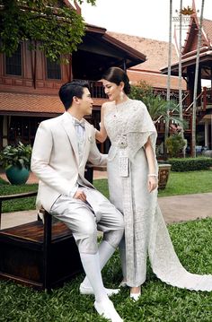
[[[94,180],[94,186],[109,197],[107,179]],[[18,194],[38,189],[37,184],[11,186],[0,178],[0,196]],[[158,196],[175,196],[212,192],[212,170],[171,172],[167,187],[160,190]],[[35,197],[13,200],[3,203],[3,213],[10,213],[35,208]]]

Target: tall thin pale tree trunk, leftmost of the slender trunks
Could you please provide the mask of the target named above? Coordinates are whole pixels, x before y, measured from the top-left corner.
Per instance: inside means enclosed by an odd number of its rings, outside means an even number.
[[[170,88],[171,88],[171,64],[172,64],[172,0],[170,0],[170,14],[169,14],[169,53],[168,53],[168,77],[167,77],[167,104],[168,109],[167,113],[169,114],[169,105],[170,105]],[[165,123],[165,135],[164,135],[164,142],[169,135],[169,122]],[[167,148],[164,144],[164,154],[167,157]]]

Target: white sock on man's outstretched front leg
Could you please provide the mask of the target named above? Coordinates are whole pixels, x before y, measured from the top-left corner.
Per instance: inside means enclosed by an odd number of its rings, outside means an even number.
[[[81,261],[84,266],[84,272],[93,288],[96,301],[107,300],[108,295],[102,283],[102,274],[100,266],[99,253],[84,254],[80,253]]]

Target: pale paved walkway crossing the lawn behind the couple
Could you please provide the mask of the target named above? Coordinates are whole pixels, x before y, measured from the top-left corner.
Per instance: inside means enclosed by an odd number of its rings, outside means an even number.
[[[0,174],[4,178],[4,174]],[[107,178],[104,171],[94,171],[93,178]],[[28,183],[36,183],[38,179],[31,174]],[[165,222],[187,222],[198,218],[212,217],[212,193],[183,195],[183,196],[163,196],[158,198]],[[2,228],[12,227],[25,222],[36,220],[35,210],[3,213]]]

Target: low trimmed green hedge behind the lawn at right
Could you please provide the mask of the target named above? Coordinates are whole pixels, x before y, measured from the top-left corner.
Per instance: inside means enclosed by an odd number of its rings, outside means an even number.
[[[195,170],[209,170],[212,167],[212,158],[172,158],[168,162],[172,164],[172,171],[185,172]]]

